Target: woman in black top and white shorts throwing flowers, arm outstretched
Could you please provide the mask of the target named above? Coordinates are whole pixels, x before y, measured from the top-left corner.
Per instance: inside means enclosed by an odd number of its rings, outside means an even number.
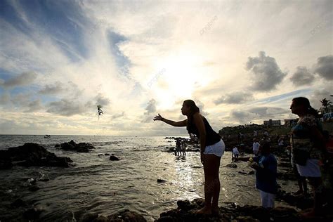
[[[185,100],[181,113],[187,116],[180,122],[174,122],[157,115],[154,120],[160,120],[171,126],[186,126],[188,133],[194,133],[200,138],[200,159],[204,166],[204,202],[205,206],[197,214],[218,214],[218,197],[220,195],[220,168],[221,157],[225,150],[221,136],[216,133],[207,119],[200,114],[199,107],[193,100]]]

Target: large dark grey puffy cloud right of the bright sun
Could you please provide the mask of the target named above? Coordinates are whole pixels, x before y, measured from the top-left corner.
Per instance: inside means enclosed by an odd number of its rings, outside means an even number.
[[[252,89],[254,91],[271,91],[276,89],[287,73],[282,72],[275,58],[259,52],[259,57],[249,57],[246,70],[252,72]]]

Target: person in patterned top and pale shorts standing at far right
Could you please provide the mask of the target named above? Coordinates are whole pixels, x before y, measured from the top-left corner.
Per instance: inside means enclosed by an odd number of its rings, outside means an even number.
[[[323,213],[324,196],[319,162],[322,160],[323,164],[327,164],[329,155],[325,148],[318,112],[311,107],[308,98],[293,98],[290,109],[292,113],[299,116],[299,121],[292,128],[290,140],[294,162],[299,174],[308,178],[314,192],[313,209],[304,212],[301,216],[312,218]]]

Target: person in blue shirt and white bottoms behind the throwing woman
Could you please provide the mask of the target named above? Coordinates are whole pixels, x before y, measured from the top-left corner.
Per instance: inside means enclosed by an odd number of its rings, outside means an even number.
[[[257,157],[240,157],[237,160],[249,161],[249,166],[256,170],[256,188],[260,192],[261,205],[264,208],[274,208],[275,195],[278,192],[276,182],[278,164],[270,153],[270,144],[259,146]]]

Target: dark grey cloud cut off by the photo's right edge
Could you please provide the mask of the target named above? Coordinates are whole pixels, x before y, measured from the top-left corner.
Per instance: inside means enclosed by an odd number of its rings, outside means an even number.
[[[333,55],[318,58],[315,73],[326,80],[333,80]]]

